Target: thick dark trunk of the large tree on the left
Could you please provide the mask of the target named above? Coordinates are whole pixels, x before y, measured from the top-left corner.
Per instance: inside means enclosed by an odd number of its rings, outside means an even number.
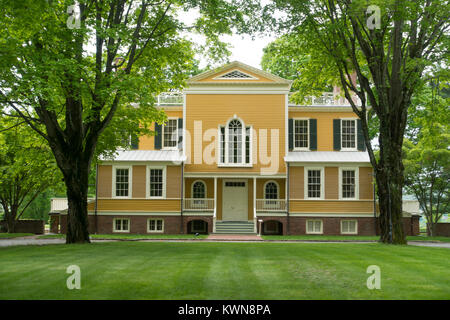
[[[82,159],[74,161],[64,170],[69,210],[66,243],[89,243],[87,193],[89,168]]]

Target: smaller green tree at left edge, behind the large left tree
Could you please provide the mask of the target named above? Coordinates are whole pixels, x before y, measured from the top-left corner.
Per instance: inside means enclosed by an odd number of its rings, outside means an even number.
[[[0,204],[13,233],[36,197],[61,176],[45,141],[23,121],[0,118],[0,146]]]

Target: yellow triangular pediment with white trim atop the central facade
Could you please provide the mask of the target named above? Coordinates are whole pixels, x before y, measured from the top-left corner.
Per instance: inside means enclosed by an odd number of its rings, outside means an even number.
[[[290,84],[290,80],[234,61],[222,67],[198,74],[188,80],[189,84],[226,84],[226,83],[277,83]]]

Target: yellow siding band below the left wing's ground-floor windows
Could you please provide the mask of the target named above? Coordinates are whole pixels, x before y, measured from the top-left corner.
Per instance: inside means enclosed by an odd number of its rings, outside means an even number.
[[[125,212],[180,212],[179,199],[98,199],[98,211]],[[94,210],[89,203],[88,210]]]

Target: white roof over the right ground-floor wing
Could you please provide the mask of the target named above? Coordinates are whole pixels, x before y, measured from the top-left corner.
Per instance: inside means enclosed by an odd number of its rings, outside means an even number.
[[[370,163],[363,151],[294,151],[284,157],[286,162],[358,162]]]

